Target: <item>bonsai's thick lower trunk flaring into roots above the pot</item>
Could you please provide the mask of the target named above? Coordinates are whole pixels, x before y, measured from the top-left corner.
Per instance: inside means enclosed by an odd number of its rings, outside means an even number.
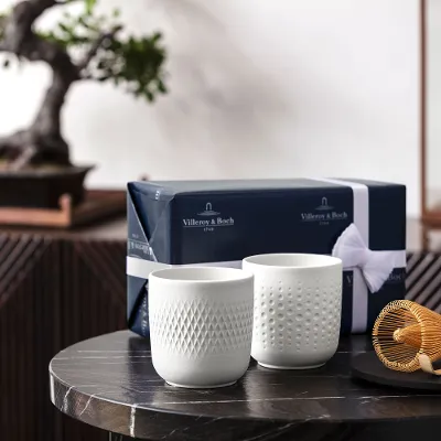
[[[0,154],[12,160],[11,169],[30,163],[71,165],[68,146],[61,133],[61,110],[74,80],[63,72],[53,71],[52,84],[29,129],[0,139]]]

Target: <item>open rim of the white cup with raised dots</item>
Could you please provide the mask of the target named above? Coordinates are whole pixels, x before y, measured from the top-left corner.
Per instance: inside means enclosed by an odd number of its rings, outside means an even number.
[[[268,260],[275,258],[314,258],[316,263],[310,265],[276,265]],[[266,261],[267,260],[267,261]],[[261,268],[273,269],[320,269],[343,265],[342,259],[329,255],[311,254],[311,252],[269,252],[261,255],[248,256],[243,260],[245,263],[255,265]]]

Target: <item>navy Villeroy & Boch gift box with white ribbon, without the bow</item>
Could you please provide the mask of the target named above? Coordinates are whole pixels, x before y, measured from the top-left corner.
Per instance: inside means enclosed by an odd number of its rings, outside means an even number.
[[[406,249],[406,187],[400,184],[354,179],[130,182],[127,214],[127,318],[143,336],[149,335],[148,276],[155,268],[239,266],[247,256],[267,252],[330,255],[353,223],[365,232],[370,250],[405,256]],[[369,332],[388,302],[405,298],[405,263],[378,292],[365,287],[365,300],[355,292],[356,278],[357,268],[345,268],[342,333]]]

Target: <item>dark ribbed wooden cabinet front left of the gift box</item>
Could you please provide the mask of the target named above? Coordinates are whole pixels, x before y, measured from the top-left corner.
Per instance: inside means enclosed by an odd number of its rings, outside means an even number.
[[[47,364],[126,327],[126,222],[0,229],[0,432],[7,441],[106,440],[49,402]]]

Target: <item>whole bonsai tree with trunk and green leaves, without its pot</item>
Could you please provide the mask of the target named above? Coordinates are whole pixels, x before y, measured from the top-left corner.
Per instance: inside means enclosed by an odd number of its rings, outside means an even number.
[[[82,12],[64,12],[50,31],[36,26],[37,19],[49,9],[71,3],[82,3]],[[52,71],[52,83],[30,127],[0,138],[0,158],[6,158],[12,170],[42,162],[71,165],[61,130],[61,110],[66,94],[77,82],[111,82],[148,101],[166,93],[161,34],[127,35],[119,11],[100,15],[96,0],[17,3],[0,14],[0,52],[6,54],[4,67],[14,62],[44,62]]]

